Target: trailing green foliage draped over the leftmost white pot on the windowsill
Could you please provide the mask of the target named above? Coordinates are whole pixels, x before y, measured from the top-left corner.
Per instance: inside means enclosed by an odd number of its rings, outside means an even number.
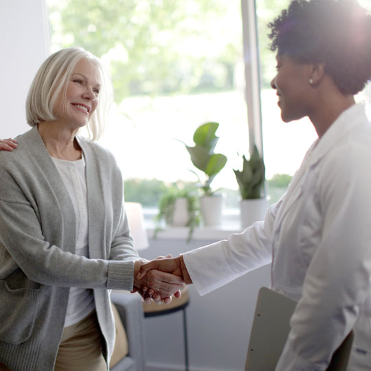
[[[171,225],[174,218],[175,201],[180,198],[187,199],[188,205],[188,223],[189,227],[188,240],[192,238],[194,228],[200,224],[200,212],[199,212],[199,197],[197,196],[196,186],[188,185],[185,188],[179,188],[179,185],[175,183],[170,186],[164,194],[162,194],[159,200],[159,212],[155,216],[155,233],[154,237],[157,237],[159,231],[163,229],[162,225]]]

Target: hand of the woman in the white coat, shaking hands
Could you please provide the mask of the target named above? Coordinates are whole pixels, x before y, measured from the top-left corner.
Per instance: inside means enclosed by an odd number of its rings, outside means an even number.
[[[142,279],[153,269],[166,273],[172,273],[173,275],[179,276],[179,278],[181,278],[185,284],[192,284],[192,280],[184,263],[183,256],[181,255],[177,258],[161,258],[152,260],[150,262],[145,262],[139,268],[137,278]]]

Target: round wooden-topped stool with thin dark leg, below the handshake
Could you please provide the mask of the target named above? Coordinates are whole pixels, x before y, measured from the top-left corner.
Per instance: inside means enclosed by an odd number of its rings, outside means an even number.
[[[176,297],[172,296],[172,302],[170,304],[156,304],[155,302],[150,302],[150,304],[147,304],[146,302],[143,302],[144,317],[167,315],[177,311],[183,312],[184,359],[186,361],[186,371],[189,370],[187,319],[186,319],[186,307],[188,306],[188,304],[190,304],[188,286],[184,286],[183,289],[181,289],[180,299],[177,299]]]

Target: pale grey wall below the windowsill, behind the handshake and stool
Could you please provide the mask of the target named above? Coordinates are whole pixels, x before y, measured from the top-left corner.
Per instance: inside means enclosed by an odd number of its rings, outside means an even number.
[[[172,254],[215,241],[157,239],[149,249],[139,251],[144,258]],[[240,371],[245,367],[247,346],[261,286],[269,286],[270,265],[201,297],[190,285],[188,352],[191,371]],[[144,319],[147,371],[184,370],[181,312]]]

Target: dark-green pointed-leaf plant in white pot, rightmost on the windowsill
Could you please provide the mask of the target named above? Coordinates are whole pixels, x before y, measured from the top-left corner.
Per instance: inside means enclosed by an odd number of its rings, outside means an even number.
[[[241,196],[241,227],[248,227],[255,221],[263,220],[268,207],[265,195],[265,164],[255,144],[249,160],[243,155],[243,169],[233,171]]]

